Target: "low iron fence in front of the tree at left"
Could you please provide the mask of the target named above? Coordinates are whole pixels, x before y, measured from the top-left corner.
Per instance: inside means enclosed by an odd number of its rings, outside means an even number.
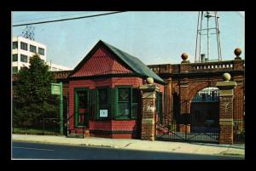
[[[67,100],[63,100],[64,113]],[[12,101],[13,133],[18,134],[60,134],[59,99]],[[63,115],[64,134],[67,134],[67,115]]]

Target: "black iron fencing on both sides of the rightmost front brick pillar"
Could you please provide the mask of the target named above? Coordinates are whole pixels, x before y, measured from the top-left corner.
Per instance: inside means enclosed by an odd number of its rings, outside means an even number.
[[[157,140],[218,143],[218,99],[174,100],[172,115],[163,114],[162,122],[156,125]],[[181,103],[187,111],[181,113]],[[245,100],[235,97],[233,103],[233,141],[245,143]]]

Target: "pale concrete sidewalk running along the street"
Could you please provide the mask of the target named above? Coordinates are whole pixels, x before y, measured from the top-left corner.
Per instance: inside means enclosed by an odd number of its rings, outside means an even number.
[[[60,145],[90,145],[142,151],[165,151],[207,155],[245,155],[245,145],[215,145],[172,141],[134,139],[107,139],[97,137],[67,138],[65,136],[12,134],[12,140],[53,143]]]

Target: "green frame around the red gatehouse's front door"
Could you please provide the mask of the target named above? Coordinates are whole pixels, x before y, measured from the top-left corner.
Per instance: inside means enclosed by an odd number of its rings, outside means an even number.
[[[84,117],[89,117],[89,88],[74,88],[74,126],[75,128],[87,128],[88,125],[85,125],[84,122],[83,125],[79,125],[79,91],[86,91],[87,93],[87,111],[84,113]],[[88,118],[89,120],[89,118]],[[88,123],[89,124],[89,123]]]

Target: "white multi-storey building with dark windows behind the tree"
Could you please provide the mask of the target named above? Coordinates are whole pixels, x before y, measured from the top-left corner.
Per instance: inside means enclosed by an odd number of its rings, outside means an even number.
[[[13,73],[20,71],[20,67],[29,66],[29,60],[34,54],[39,54],[40,58],[46,62],[46,45],[25,37],[13,37]]]

